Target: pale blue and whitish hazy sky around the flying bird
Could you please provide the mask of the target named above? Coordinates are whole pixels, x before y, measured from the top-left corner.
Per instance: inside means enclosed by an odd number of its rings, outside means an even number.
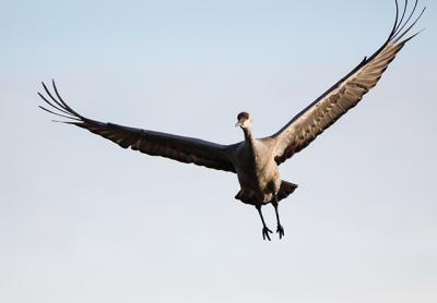
[[[0,302],[437,302],[435,1],[281,166],[299,187],[270,243],[236,175],[52,123],[40,81],[102,121],[231,144],[246,110],[265,136],[383,43],[393,1],[0,4]]]

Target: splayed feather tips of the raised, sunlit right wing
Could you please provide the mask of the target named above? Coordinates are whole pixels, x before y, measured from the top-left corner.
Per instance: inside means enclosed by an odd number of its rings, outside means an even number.
[[[393,29],[391,31],[389,38],[387,39],[387,43],[393,43],[397,44],[399,43],[408,33],[410,33],[411,28],[413,28],[413,26],[417,23],[417,21],[421,19],[421,16],[423,15],[423,13],[426,10],[426,7],[424,7],[421,11],[421,13],[415,16],[413,20],[413,22],[410,23],[410,21],[412,20],[412,17],[414,16],[414,14],[416,13],[417,10],[417,4],[418,4],[418,0],[415,0],[414,2],[414,7],[411,10],[411,12],[409,13],[409,16],[406,17],[406,11],[409,9],[409,0],[404,0],[404,7],[403,7],[403,11],[402,11],[402,15],[399,19],[399,3],[398,0],[395,1],[395,7],[397,7],[397,14],[395,14],[395,20],[394,20],[394,25],[393,25]],[[405,19],[406,17],[406,19]],[[408,26],[405,28],[405,26]],[[415,36],[417,36],[421,32],[423,32],[424,29],[418,31],[417,33],[411,35],[410,37],[403,39],[402,41],[400,41],[401,44],[405,44],[406,41],[409,41],[410,39],[414,38]]]

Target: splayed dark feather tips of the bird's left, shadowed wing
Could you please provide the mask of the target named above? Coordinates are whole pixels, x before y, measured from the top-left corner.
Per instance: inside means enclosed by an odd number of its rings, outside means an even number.
[[[54,97],[52,93],[47,88],[47,85],[42,82],[44,90],[46,92],[48,98],[43,95],[42,93],[38,92],[38,96],[49,106],[49,108],[46,108],[44,106],[38,106],[40,109],[61,117],[69,119],[70,121],[58,121],[58,120],[52,120],[54,122],[62,122],[62,123],[72,123],[72,124],[78,124],[78,122],[83,122],[84,117],[80,116],[78,112],[75,112],[69,105],[63,101],[62,97],[59,95],[58,88],[56,87],[55,80],[51,80],[51,85],[55,92],[55,95],[57,98]],[[74,120],[76,122],[73,122],[71,120]]]

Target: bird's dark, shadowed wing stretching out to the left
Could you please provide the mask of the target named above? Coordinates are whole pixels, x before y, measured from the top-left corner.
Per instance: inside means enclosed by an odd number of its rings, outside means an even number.
[[[110,140],[122,148],[130,147],[133,150],[140,150],[151,156],[161,156],[185,163],[194,163],[212,169],[235,172],[231,160],[234,145],[220,145],[193,137],[177,136],[91,120],[79,114],[62,100],[55,82],[52,82],[52,86],[57,98],[54,97],[54,94],[49,92],[44,83],[43,86],[48,97],[40,93],[38,95],[50,108],[42,106],[39,108],[69,119],[69,121],[62,121],[64,123],[86,129],[92,133]]]

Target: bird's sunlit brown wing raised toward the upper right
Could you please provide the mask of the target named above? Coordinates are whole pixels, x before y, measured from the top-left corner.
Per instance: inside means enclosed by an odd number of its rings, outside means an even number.
[[[363,96],[377,84],[389,63],[405,43],[418,34],[402,40],[425,11],[424,8],[414,22],[409,25],[417,8],[417,1],[415,1],[414,8],[405,22],[408,0],[404,2],[400,20],[399,5],[398,1],[395,1],[395,21],[386,43],[373,56],[365,58],[346,76],[294,117],[277,133],[269,137],[275,143],[274,156],[277,163],[282,163],[305,148],[340,117],[355,107]],[[408,27],[405,28],[405,26]]]

